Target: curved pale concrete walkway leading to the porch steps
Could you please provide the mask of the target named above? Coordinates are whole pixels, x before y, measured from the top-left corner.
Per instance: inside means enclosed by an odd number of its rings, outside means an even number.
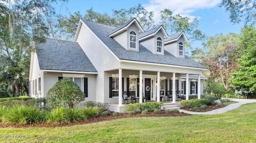
[[[224,108],[219,108],[219,109],[208,111],[208,112],[191,112],[191,111],[186,111],[186,110],[181,110],[181,109],[180,109],[180,112],[184,112],[184,113],[188,113],[188,114],[197,114],[197,115],[222,114],[222,113],[228,112],[230,110],[234,110],[243,104],[256,102],[255,99],[231,99],[231,98],[229,98],[229,99],[231,101],[236,101],[238,103],[233,103]]]

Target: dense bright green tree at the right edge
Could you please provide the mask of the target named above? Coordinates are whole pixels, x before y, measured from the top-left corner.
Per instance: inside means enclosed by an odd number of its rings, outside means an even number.
[[[230,82],[237,90],[251,92],[256,95],[256,29],[252,26],[241,31],[238,40],[239,53],[238,71],[232,71]]]

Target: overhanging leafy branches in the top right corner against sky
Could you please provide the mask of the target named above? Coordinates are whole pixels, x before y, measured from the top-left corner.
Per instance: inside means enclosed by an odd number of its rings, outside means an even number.
[[[245,25],[256,22],[255,0],[222,0],[220,8],[230,12],[230,21],[234,24],[244,22]]]

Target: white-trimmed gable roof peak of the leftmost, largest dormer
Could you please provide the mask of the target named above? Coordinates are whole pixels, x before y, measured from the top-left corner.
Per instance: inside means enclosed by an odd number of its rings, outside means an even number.
[[[144,32],[143,28],[141,27],[141,25],[139,24],[138,20],[136,18],[133,18],[131,20],[129,20],[128,22],[120,25],[119,27],[117,27],[116,29],[112,30],[110,32],[110,34],[108,35],[108,37],[113,37],[115,35],[118,35],[119,33],[125,31],[131,24],[135,23],[136,27],[139,29],[139,32],[142,33]]]

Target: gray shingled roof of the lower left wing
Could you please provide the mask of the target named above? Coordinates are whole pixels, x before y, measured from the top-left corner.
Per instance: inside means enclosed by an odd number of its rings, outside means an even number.
[[[80,45],[76,42],[46,39],[37,45],[40,69],[97,72]]]

